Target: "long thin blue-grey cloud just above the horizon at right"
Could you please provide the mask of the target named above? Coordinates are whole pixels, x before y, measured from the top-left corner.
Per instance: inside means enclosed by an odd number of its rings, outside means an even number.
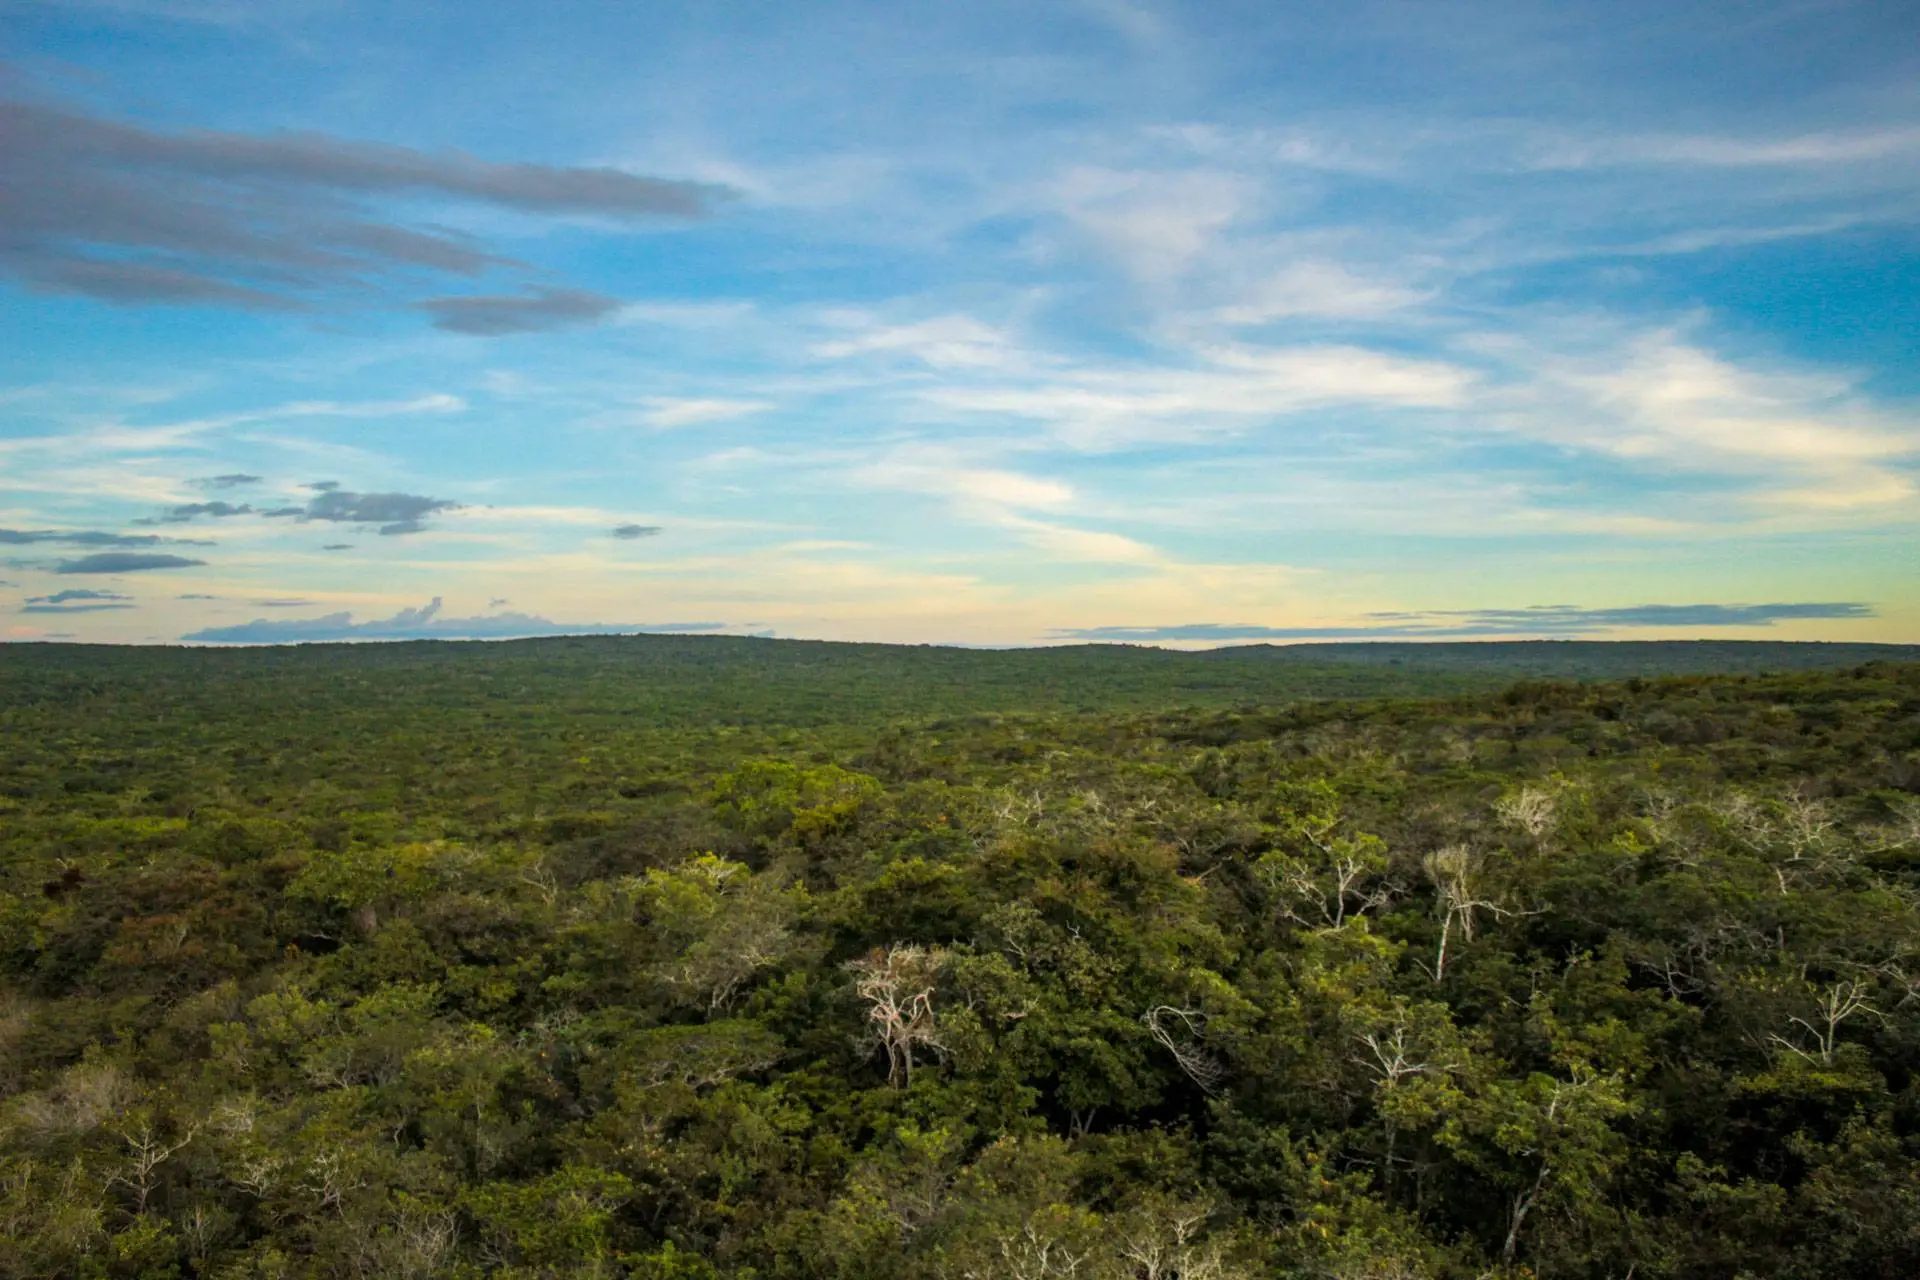
[[[1580,635],[1617,628],[1768,628],[1801,618],[1874,618],[1872,604],[1809,601],[1786,604],[1630,604],[1578,608],[1530,604],[1526,608],[1461,608],[1434,612],[1369,614],[1371,624],[1352,628],[1263,628],[1250,624],[1187,622],[1177,626],[1064,628],[1058,639],[1087,641],[1242,641],[1242,639],[1453,639],[1473,635]]]

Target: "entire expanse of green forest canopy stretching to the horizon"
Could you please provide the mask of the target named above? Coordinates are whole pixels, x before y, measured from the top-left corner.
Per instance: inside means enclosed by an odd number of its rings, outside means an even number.
[[[0,1276],[1920,1274],[1920,649],[0,647]]]

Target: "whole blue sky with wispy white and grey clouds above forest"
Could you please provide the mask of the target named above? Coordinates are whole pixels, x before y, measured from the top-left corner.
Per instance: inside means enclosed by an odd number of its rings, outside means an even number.
[[[0,637],[1914,643],[1916,219],[1885,0],[0,0]]]

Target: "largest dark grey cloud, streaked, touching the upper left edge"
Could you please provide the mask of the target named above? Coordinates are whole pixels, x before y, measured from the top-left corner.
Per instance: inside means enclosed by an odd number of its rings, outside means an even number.
[[[40,290],[271,311],[397,273],[474,276],[509,263],[451,230],[376,211],[409,196],[536,215],[695,219],[730,192],[313,132],[161,132],[0,102],[0,274]]]

